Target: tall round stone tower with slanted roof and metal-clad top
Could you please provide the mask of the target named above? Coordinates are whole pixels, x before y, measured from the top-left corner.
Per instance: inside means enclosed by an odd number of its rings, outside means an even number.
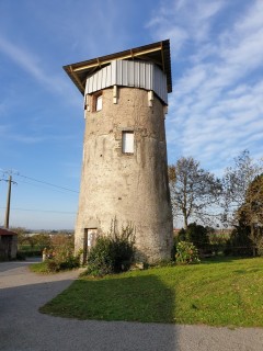
[[[138,259],[169,259],[172,212],[164,116],[172,91],[170,43],[65,66],[84,97],[85,132],[76,249],[119,226],[136,228]]]

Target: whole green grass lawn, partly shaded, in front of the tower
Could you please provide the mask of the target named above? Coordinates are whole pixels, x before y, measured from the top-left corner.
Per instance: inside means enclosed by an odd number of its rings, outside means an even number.
[[[79,319],[263,327],[263,258],[84,276],[41,312]]]

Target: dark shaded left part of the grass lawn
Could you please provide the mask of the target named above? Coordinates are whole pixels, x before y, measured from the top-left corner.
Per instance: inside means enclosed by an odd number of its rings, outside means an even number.
[[[174,322],[174,292],[155,275],[82,278],[41,312],[78,319]]]

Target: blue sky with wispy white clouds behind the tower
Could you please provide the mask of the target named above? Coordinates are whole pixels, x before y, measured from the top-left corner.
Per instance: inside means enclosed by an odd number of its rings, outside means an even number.
[[[0,0],[0,170],[18,183],[11,226],[75,226],[84,120],[62,66],[167,38],[169,163],[193,156],[221,176],[243,149],[261,158],[262,0]],[[1,181],[0,226],[5,197]]]

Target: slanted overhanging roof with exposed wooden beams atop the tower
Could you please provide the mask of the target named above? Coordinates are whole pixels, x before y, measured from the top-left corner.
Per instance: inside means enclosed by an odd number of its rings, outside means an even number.
[[[142,60],[157,65],[167,76],[167,91],[172,92],[172,76],[171,76],[171,58],[170,58],[170,41],[162,41],[145,46],[130,48],[128,50],[92,58],[85,61],[64,66],[73,83],[78,87],[80,92],[84,94],[87,78],[102,68],[108,66],[115,60]],[[104,75],[110,73],[107,70]],[[111,80],[110,76],[104,78],[104,81]]]

